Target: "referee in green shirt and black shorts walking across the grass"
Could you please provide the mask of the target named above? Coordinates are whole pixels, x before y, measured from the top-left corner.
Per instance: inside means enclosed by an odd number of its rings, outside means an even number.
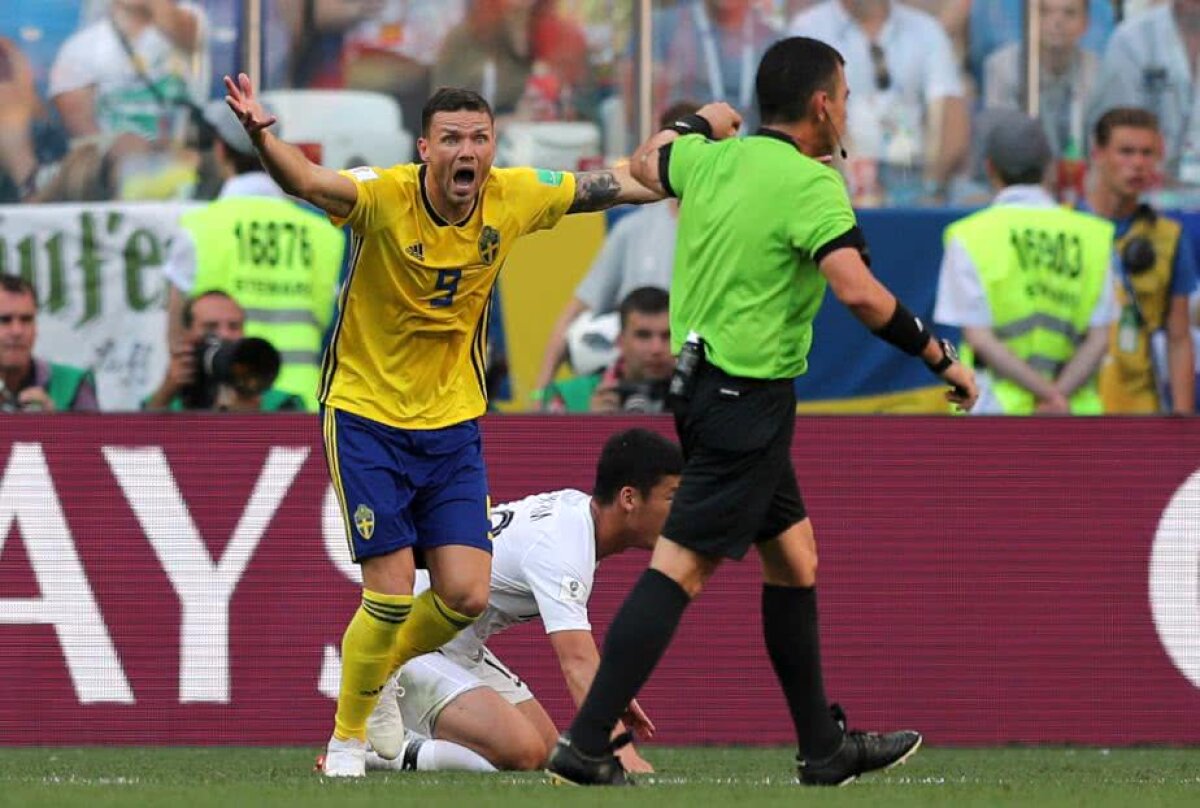
[[[808,369],[826,285],[870,328],[920,357],[970,408],[977,390],[953,348],[868,269],[866,244],[841,176],[850,91],[835,49],[776,42],[758,65],[763,128],[709,104],[634,155],[647,187],[678,197],[671,282],[676,429],[686,457],[664,537],[608,628],[600,670],[548,771],[560,780],[622,785],[612,750],[618,718],[666,651],[684,609],[725,558],[750,545],[762,559],[767,651],[796,724],[800,782],[840,785],[904,761],[913,731],[847,731],[826,701],[816,608],[816,543],[792,468],[793,379]]]

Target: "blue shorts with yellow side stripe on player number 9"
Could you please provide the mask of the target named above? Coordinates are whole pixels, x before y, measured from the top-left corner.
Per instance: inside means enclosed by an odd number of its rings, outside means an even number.
[[[446,544],[492,551],[478,423],[404,430],[326,407],[322,430],[355,562]]]

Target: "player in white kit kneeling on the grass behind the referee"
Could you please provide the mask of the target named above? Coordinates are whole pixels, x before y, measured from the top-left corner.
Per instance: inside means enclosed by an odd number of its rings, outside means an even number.
[[[540,768],[558,731],[526,683],[485,644],[540,616],[578,706],[600,663],[587,609],[595,567],[630,547],[654,546],[682,469],[674,443],[634,429],[605,443],[592,496],[564,489],[494,507],[487,610],[388,682],[367,737],[394,759],[372,753],[367,768]],[[419,571],[415,591],[428,585],[427,573]],[[641,737],[654,734],[636,701],[625,720]],[[619,756],[628,771],[653,771],[631,744]]]

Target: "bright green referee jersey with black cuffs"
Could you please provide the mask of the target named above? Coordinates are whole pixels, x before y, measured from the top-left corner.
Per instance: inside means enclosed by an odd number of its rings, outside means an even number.
[[[720,142],[680,137],[661,161],[680,203],[672,351],[696,331],[726,373],[800,376],[824,297],[817,263],[840,246],[864,247],[841,175],[768,128]]]

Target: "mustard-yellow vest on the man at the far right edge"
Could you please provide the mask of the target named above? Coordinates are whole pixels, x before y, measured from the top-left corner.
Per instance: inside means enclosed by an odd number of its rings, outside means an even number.
[[[1132,239],[1150,239],[1154,264],[1145,271],[1126,273],[1136,301],[1130,301],[1126,282],[1116,280],[1116,301],[1121,319],[1109,333],[1109,353],[1100,366],[1100,399],[1110,413],[1157,413],[1162,411],[1154,366],[1150,357],[1150,335],[1166,325],[1171,303],[1171,268],[1180,249],[1182,227],[1163,216],[1138,217],[1117,239],[1117,255]],[[1129,323],[1129,321],[1133,321]],[[1140,322],[1139,322],[1140,319]],[[1122,334],[1122,328],[1127,331]],[[1133,337],[1132,342],[1129,337]]]

